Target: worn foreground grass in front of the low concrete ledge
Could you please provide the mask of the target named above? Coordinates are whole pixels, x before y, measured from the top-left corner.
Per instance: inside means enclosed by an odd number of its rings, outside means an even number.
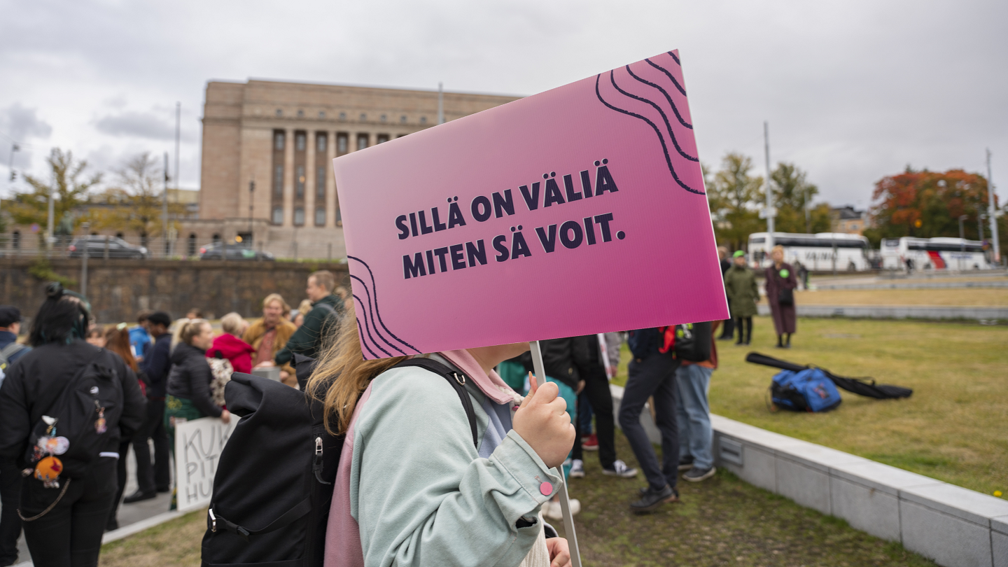
[[[619,458],[637,466],[625,437],[616,436],[616,447]],[[643,476],[605,476],[591,453],[586,453],[585,469],[585,478],[571,479],[570,493],[582,503],[575,527],[586,567],[934,566],[898,543],[854,530],[726,471],[704,482],[680,481],[681,502],[637,516],[628,504],[646,483]],[[551,524],[562,535],[562,522]]]

